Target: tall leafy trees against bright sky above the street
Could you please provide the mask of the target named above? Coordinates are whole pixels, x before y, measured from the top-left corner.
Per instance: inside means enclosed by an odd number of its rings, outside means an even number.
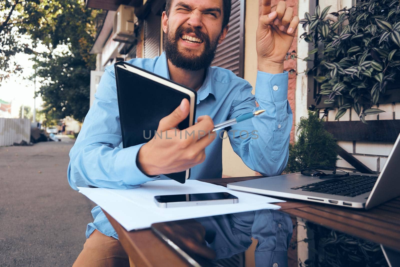
[[[86,8],[84,0],[0,0],[0,68],[3,74],[18,72],[13,56],[34,55],[36,75],[44,79],[39,94],[52,117],[82,120],[88,111],[96,62],[89,50],[98,12]],[[29,42],[22,41],[24,36]],[[46,52],[38,50],[40,44]]]

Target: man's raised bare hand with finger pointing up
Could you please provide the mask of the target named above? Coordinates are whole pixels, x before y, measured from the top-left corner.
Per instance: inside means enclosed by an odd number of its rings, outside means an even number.
[[[284,1],[278,2],[271,11],[271,0],[262,0],[260,10],[256,34],[258,69],[281,73],[300,20],[293,16],[293,8],[286,7]]]

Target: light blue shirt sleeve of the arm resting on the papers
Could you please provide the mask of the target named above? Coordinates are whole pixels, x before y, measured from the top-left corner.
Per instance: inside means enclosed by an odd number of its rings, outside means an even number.
[[[136,165],[144,144],[123,148],[114,70],[106,68],[78,138],[70,151],[68,182],[77,187],[131,189],[148,177]]]

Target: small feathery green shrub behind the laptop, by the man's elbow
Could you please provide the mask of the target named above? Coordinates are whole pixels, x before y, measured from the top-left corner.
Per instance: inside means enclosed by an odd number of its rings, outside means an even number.
[[[297,124],[298,139],[289,145],[289,161],[286,173],[295,173],[312,165],[335,166],[337,160],[336,140],[324,129],[319,110],[308,111],[308,118]]]

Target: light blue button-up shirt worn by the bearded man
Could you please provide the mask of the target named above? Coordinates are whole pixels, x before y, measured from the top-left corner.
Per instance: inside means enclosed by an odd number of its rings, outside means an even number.
[[[169,78],[166,56],[135,58],[130,64]],[[146,90],[135,88],[132,90]],[[230,70],[209,67],[206,78],[197,91],[196,116],[209,115],[214,124],[240,114],[265,109],[257,117],[228,127],[233,150],[252,170],[265,176],[282,173],[288,161],[292,110],[288,102],[288,72],[257,73],[256,93],[246,80]],[[151,107],[151,100],[148,106]],[[260,105],[256,107],[256,101]],[[191,169],[190,179],[222,177],[222,130],[206,147],[206,159]],[[71,187],[106,187],[132,189],[160,177],[148,177],[136,165],[141,145],[122,148],[122,136],[114,66],[108,66],[100,80],[93,106],[70,151],[68,182]],[[162,177],[165,177],[162,175]],[[161,177],[161,178],[162,178]],[[88,238],[94,229],[118,238],[114,228],[99,206],[92,209],[93,223],[86,230]]]

